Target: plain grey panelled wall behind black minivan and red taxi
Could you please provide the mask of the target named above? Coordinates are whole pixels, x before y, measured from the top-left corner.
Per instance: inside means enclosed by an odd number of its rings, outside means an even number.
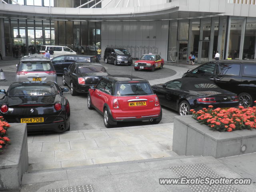
[[[156,46],[158,54],[167,59],[168,21],[102,22],[101,47]],[[150,38],[147,38],[149,36]],[[156,38],[153,38],[156,36]]]

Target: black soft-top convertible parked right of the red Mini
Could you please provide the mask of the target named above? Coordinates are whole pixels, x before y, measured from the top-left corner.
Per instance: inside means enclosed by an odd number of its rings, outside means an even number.
[[[152,86],[160,104],[188,115],[190,109],[238,107],[236,94],[219,88],[204,78],[180,78]]]

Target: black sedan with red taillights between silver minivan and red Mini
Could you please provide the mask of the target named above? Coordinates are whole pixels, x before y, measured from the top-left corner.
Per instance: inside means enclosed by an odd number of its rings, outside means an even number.
[[[85,93],[90,86],[95,86],[102,76],[108,76],[107,70],[97,63],[73,63],[68,68],[64,68],[62,84],[68,85],[71,95]]]

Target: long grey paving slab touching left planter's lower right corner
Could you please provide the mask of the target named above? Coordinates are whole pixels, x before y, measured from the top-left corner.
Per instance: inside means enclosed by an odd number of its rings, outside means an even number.
[[[67,180],[66,171],[53,171],[42,173],[27,173],[22,177],[22,184],[42,183],[49,181]]]

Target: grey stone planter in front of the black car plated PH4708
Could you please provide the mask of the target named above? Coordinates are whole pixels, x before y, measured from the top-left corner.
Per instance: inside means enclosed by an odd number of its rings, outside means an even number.
[[[28,170],[26,124],[11,123],[7,131],[11,144],[0,154],[0,191],[18,190]]]

